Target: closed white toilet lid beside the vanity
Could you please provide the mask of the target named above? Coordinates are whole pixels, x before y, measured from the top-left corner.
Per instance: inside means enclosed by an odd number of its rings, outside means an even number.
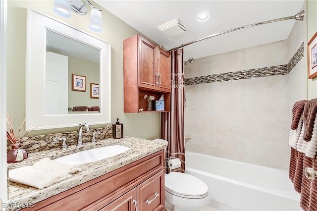
[[[198,199],[208,196],[208,186],[202,180],[173,171],[165,174],[165,190],[183,198]]]

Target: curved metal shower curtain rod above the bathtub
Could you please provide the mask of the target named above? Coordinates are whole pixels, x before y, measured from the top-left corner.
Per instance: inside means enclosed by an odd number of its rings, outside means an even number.
[[[237,27],[237,28],[234,28],[234,29],[229,29],[229,30],[226,30],[226,31],[223,31],[223,32],[212,34],[212,35],[209,35],[207,37],[204,37],[204,38],[201,38],[201,39],[198,39],[198,40],[183,44],[181,46],[178,46],[176,48],[173,48],[173,49],[169,50],[168,52],[170,52],[172,50],[180,49],[182,47],[185,47],[185,46],[191,45],[193,43],[197,43],[199,41],[206,40],[206,39],[218,36],[218,35],[223,35],[223,34],[226,34],[226,33],[229,33],[229,32],[234,32],[234,31],[237,31],[237,30],[240,30],[240,29],[250,28],[252,26],[259,26],[259,25],[263,25],[263,24],[266,24],[266,23],[274,23],[274,22],[278,22],[278,21],[282,21],[282,20],[289,20],[289,19],[304,20],[304,16],[305,16],[305,11],[303,10],[303,11],[301,11],[301,12],[299,12],[296,15],[293,15],[293,16],[277,18],[277,19],[273,19],[273,20],[267,20],[267,21],[263,21],[263,22],[259,22],[259,23],[254,23],[254,24],[250,24],[250,25],[246,25],[246,26]]]

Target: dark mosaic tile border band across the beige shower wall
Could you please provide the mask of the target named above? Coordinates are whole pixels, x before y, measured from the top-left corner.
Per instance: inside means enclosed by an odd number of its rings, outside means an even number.
[[[293,55],[288,64],[263,67],[250,70],[241,70],[236,72],[226,72],[207,76],[199,76],[194,78],[185,78],[186,85],[206,84],[212,82],[233,81],[248,78],[260,78],[273,75],[287,75],[296,64],[304,57],[304,43],[300,46],[297,52]]]

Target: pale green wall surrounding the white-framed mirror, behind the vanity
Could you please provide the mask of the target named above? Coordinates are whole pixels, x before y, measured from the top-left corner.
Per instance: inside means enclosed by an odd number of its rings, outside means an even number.
[[[124,39],[139,33],[108,11],[102,11],[103,30],[95,34],[88,29],[89,14],[80,16],[72,12],[70,19],[61,18],[53,13],[53,0],[8,0],[7,15],[7,112],[12,115],[14,128],[19,128],[25,117],[25,57],[27,7],[51,15],[75,28],[94,34],[111,44],[111,122],[116,118],[124,124],[124,135],[146,139],[159,138],[159,113],[123,112],[123,45]],[[34,102],[36,103],[36,102]],[[83,123],[83,122],[78,122]],[[104,127],[98,125],[96,127]],[[29,135],[50,134],[74,131],[74,128],[32,131]],[[24,128],[20,134],[24,134]]]

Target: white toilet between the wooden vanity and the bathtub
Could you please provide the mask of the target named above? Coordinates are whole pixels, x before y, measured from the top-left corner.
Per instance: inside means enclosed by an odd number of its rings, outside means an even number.
[[[166,143],[163,139],[154,141]],[[165,174],[165,207],[168,211],[199,211],[210,202],[208,186],[185,173]]]

